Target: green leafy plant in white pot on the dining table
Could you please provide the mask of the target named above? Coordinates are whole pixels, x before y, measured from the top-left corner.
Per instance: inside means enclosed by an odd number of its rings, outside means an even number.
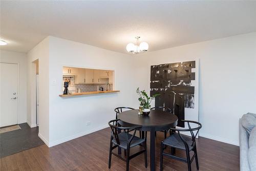
[[[154,94],[152,97],[148,96],[145,90],[140,91],[139,88],[136,90],[136,93],[139,95],[140,105],[143,106],[142,113],[143,115],[150,114],[151,101],[153,98],[159,96],[160,94]]]

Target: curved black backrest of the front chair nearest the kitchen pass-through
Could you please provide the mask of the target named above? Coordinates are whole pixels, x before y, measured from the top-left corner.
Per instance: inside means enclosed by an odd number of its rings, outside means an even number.
[[[116,139],[116,142],[118,145],[120,145],[120,140],[118,137],[118,134],[122,131],[122,130],[127,130],[127,131],[134,131],[133,135],[129,138],[128,140],[128,145],[130,145],[130,143],[132,142],[132,139],[134,138],[136,131],[138,129],[141,128],[141,126],[129,126],[129,127],[123,127],[118,123],[119,119],[114,119],[109,121],[109,125],[111,127],[111,141],[113,140],[113,138]]]

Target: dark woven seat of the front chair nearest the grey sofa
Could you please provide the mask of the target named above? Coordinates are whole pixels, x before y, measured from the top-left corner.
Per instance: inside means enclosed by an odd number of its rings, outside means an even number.
[[[181,137],[186,141],[189,151],[191,151],[193,149],[193,146],[191,146],[193,144],[192,138],[188,136],[183,136],[183,135],[181,135]],[[163,140],[163,144],[172,146],[174,148],[180,148],[180,149],[186,150],[185,144],[180,139],[180,136],[178,133],[174,133],[170,135],[168,138],[166,138],[165,140]]]

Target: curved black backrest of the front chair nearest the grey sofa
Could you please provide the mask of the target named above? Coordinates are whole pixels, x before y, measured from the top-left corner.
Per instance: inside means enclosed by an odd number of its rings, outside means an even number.
[[[173,131],[178,131],[178,134],[180,136],[180,139],[183,141],[183,143],[185,144],[185,146],[188,146],[188,144],[186,143],[186,141],[182,138],[182,136],[180,135],[180,132],[190,132],[191,134],[191,137],[192,137],[192,140],[193,140],[193,143],[191,144],[191,146],[194,146],[195,143],[196,143],[196,137],[197,137],[197,134],[199,132],[199,130],[202,128],[202,124],[199,123],[199,122],[196,122],[196,121],[192,121],[192,120],[181,120],[183,122],[186,122],[189,129],[176,129],[176,128],[170,128],[170,130],[173,130]],[[197,124],[198,126],[197,127],[194,127],[194,128],[191,128],[190,126],[190,123],[194,123],[194,124]],[[194,131],[196,131],[196,134],[194,134]]]

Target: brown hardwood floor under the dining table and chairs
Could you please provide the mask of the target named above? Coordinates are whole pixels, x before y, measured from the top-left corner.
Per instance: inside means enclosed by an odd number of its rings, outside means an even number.
[[[149,141],[148,134],[148,141]],[[163,133],[157,132],[156,170],[160,167],[160,142]],[[104,129],[48,148],[40,145],[1,159],[0,170],[109,170],[110,129]],[[150,153],[148,145],[148,166]],[[132,153],[140,147],[133,147]],[[203,137],[197,140],[200,170],[239,170],[239,147]],[[168,148],[166,150],[169,150]],[[177,149],[176,154],[185,156]],[[123,155],[123,151],[122,151]],[[184,162],[164,157],[163,170],[187,170]],[[112,156],[110,170],[125,170],[125,162]],[[144,167],[143,154],[130,161],[130,170],[150,170]],[[192,170],[196,169],[195,161]]]

